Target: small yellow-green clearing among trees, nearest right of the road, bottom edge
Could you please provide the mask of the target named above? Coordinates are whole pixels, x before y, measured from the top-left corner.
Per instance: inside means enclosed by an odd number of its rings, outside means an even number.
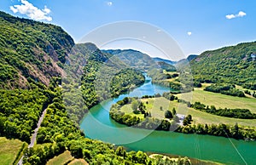
[[[54,158],[50,159],[47,162],[47,165],[55,165],[55,164],[66,164],[73,160],[73,156],[71,155],[70,151],[65,151],[61,153],[59,156],[55,156]]]

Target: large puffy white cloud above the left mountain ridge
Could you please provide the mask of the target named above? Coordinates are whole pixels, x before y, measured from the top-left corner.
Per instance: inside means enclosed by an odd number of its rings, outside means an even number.
[[[38,9],[32,3],[29,3],[26,0],[20,0],[22,4],[10,6],[14,13],[26,14],[32,20],[48,20],[51,21],[52,18],[48,15],[50,13],[50,9],[44,6],[44,9]]]

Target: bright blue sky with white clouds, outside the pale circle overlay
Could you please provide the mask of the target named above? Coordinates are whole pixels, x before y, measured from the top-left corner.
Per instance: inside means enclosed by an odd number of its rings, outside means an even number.
[[[75,42],[79,42],[85,34],[96,27],[111,22],[122,20],[147,22],[168,32],[185,55],[201,54],[208,49],[255,41],[255,8],[256,1],[252,0],[1,0],[0,2],[0,9],[9,14],[61,26]],[[119,44],[117,47],[122,48],[122,45]],[[130,47],[132,48],[132,44]],[[123,45],[123,48],[130,47]]]

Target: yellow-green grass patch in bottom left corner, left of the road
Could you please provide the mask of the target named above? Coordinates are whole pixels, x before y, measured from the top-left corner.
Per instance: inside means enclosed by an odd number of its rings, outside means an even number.
[[[23,143],[24,142],[19,139],[6,139],[4,137],[0,137],[0,164],[13,164]]]

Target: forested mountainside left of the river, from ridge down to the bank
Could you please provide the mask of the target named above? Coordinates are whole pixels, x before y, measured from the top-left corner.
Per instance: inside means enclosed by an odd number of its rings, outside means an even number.
[[[87,139],[79,129],[79,120],[92,105],[143,83],[141,71],[118,59],[113,63],[113,55],[92,43],[75,45],[59,26],[3,12],[0,25],[0,136],[29,144],[47,109],[37,145],[22,149],[14,160],[24,153],[25,164],[45,164],[68,150],[92,164],[152,164],[142,151],[126,152]],[[102,86],[106,80],[113,88]]]

